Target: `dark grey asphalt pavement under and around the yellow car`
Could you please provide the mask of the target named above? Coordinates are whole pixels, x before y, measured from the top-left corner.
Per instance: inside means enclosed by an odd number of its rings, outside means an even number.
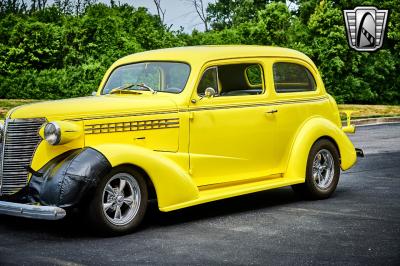
[[[330,199],[287,187],[170,213],[153,203],[140,231],[113,238],[79,216],[0,216],[0,265],[400,265],[400,124],[351,139],[366,157]]]

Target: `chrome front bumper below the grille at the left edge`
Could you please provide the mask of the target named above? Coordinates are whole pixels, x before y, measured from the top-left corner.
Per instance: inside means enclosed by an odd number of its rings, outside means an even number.
[[[0,201],[0,214],[42,220],[59,220],[64,218],[64,209],[55,206],[37,206],[8,201]]]

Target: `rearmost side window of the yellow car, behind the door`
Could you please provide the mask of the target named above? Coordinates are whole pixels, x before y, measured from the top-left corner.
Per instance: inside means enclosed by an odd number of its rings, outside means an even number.
[[[275,63],[273,66],[275,91],[302,92],[315,91],[316,84],[310,71],[295,63]]]

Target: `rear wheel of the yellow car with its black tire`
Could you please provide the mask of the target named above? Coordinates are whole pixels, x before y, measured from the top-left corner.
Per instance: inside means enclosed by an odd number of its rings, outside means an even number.
[[[329,156],[329,154],[331,157]],[[323,178],[319,178],[319,173],[321,171],[321,175],[325,176],[324,174],[327,174],[328,170],[317,170],[314,171],[314,174],[316,174],[313,175],[313,163],[315,160],[316,165],[319,166],[321,166],[321,162],[325,164],[324,160],[333,163],[332,167],[327,167],[329,169],[332,169],[333,173],[329,172],[332,175],[326,175],[329,177],[325,179],[326,183],[319,181],[323,180]],[[323,166],[321,166],[321,168],[318,168],[317,166],[315,166],[314,169],[323,169],[322,167]],[[339,176],[340,160],[339,152],[336,146],[328,139],[320,139],[313,144],[310,153],[308,154],[305,183],[293,185],[292,188],[298,195],[307,199],[326,199],[329,198],[335,191],[336,186],[339,182]]]

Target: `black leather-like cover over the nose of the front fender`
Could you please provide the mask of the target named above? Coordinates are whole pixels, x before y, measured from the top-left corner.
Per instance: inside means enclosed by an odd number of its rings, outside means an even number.
[[[32,174],[29,197],[42,205],[74,206],[111,168],[107,158],[95,149],[69,151]]]

